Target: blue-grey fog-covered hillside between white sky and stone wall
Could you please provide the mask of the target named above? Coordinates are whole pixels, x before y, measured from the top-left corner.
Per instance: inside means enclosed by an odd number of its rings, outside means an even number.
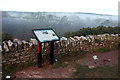
[[[53,28],[59,36],[65,32],[77,31],[83,27],[118,26],[118,18],[113,15],[81,12],[2,12],[2,29],[14,38],[33,37],[32,29]]]

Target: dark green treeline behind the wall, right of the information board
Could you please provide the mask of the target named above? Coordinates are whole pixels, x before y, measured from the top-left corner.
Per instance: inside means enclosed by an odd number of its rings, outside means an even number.
[[[94,28],[81,28],[80,30],[76,32],[67,32],[64,34],[65,37],[70,37],[70,36],[86,36],[86,35],[97,35],[97,34],[104,34],[104,33],[109,33],[109,34],[118,34],[120,33],[120,27],[105,27],[105,26],[98,26]]]

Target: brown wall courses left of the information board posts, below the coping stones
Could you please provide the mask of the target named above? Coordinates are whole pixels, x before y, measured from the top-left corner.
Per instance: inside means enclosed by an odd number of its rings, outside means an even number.
[[[37,61],[37,50],[27,50],[22,52],[10,52],[3,54],[3,65],[24,64]]]

